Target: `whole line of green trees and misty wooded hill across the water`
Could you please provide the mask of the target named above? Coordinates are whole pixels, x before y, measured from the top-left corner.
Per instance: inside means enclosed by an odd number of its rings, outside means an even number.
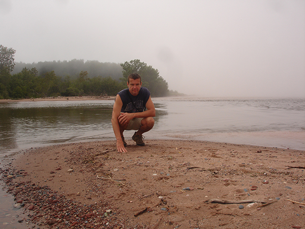
[[[15,52],[0,45],[0,99],[114,96],[127,88],[131,73],[141,76],[142,86],[148,88],[152,97],[170,93],[159,71],[140,60],[123,64],[83,60],[16,64]]]

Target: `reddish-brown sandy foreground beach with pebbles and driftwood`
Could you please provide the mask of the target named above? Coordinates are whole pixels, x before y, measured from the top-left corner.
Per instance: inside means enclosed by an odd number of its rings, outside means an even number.
[[[36,228],[304,228],[305,152],[189,140],[23,151],[1,180]],[[28,224],[26,224],[28,223]],[[33,226],[32,226],[33,227]]]

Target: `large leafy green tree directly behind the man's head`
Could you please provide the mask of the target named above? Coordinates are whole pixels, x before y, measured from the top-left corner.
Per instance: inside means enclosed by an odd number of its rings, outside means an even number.
[[[142,86],[146,87],[151,96],[161,97],[168,95],[168,83],[159,75],[158,69],[152,66],[147,66],[146,63],[140,60],[133,60],[121,64],[123,67],[122,81],[127,82],[127,78],[132,73],[138,73],[142,79]]]

